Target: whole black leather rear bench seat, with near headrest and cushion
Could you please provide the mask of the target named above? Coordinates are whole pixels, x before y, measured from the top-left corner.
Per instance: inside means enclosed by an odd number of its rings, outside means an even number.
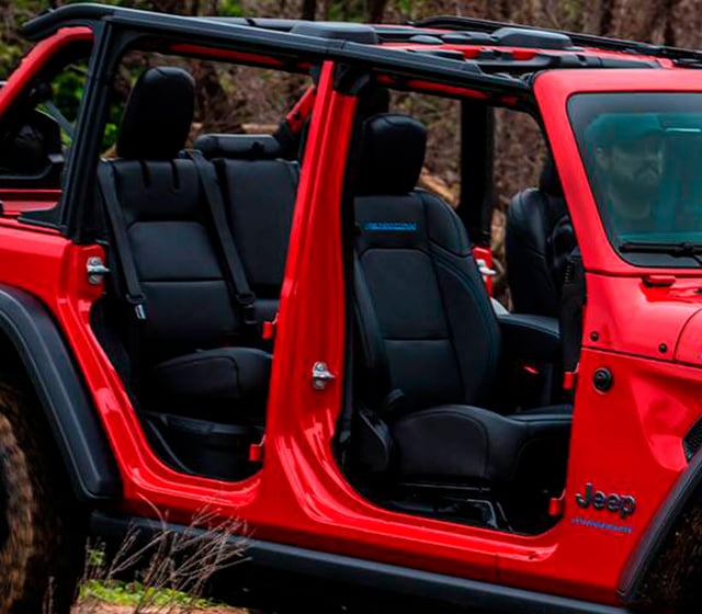
[[[251,470],[244,466],[247,442],[260,437],[265,420],[271,354],[250,346],[257,340],[244,334],[206,194],[212,185],[203,185],[197,164],[180,155],[193,92],[182,69],[144,72],[125,107],[120,158],[100,163],[109,255],[117,271],[114,288],[117,305],[126,307],[104,328],[118,338],[113,348],[126,348],[128,357],[115,363],[126,363],[121,371],[159,454],[181,470],[238,479]],[[228,178],[220,182],[226,216],[261,296],[256,317],[271,319],[282,285],[296,169],[273,160],[263,168],[254,160],[215,163]],[[276,202],[271,185],[281,171],[285,196]]]

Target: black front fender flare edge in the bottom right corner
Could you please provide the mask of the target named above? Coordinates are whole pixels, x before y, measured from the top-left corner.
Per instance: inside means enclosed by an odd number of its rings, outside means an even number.
[[[702,454],[698,452],[678,479],[663,505],[648,523],[643,537],[630,556],[619,581],[616,594],[624,603],[633,603],[683,510],[702,488]]]

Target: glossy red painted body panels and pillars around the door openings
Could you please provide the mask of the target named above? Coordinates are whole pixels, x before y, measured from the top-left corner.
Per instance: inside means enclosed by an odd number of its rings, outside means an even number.
[[[86,36],[88,31],[75,29],[37,46],[0,92],[0,113],[46,54]],[[348,484],[331,447],[347,343],[339,203],[355,109],[354,98],[333,91],[332,71],[333,65],[325,64],[312,115],[278,319],[264,463],[256,476],[238,484],[186,476],[150,451],[89,326],[101,288],[86,281],[86,262],[100,248],[73,246],[57,232],[2,219],[0,281],[34,294],[56,316],[112,443],[125,510],[154,515],[156,505],[170,520],[188,521],[208,507],[242,519],[258,538],[614,603],[626,559],[687,465],[681,439],[702,414],[702,372],[691,366],[702,362],[695,345],[702,275],[673,271],[678,277],[670,285],[650,287],[643,275],[666,271],[635,269],[615,254],[566,121],[568,95],[587,91],[593,73],[540,76],[536,95],[576,234],[587,237],[580,242],[588,270],[586,346],[564,518],[547,533],[520,536],[377,508]],[[599,71],[597,89],[650,89],[650,72]],[[693,71],[657,73],[659,90],[702,86]],[[321,391],[310,385],[317,361],[337,376]],[[592,385],[601,367],[613,375],[607,393]],[[634,497],[635,513],[622,518],[580,508],[575,494],[587,484]]]

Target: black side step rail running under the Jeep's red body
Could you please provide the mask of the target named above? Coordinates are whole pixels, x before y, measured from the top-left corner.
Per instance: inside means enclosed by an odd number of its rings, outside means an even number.
[[[110,543],[122,539],[131,530],[139,531],[139,541],[152,539],[162,531],[181,533],[193,530],[178,524],[163,524],[140,518],[115,516],[103,512],[95,512],[92,516],[92,532],[95,536]],[[233,541],[240,541],[233,536]],[[241,565],[234,565],[222,573],[226,579],[218,578],[215,584],[228,587],[229,592],[234,583],[240,581],[245,575],[246,581],[258,579],[267,592],[267,596],[275,594],[286,606],[292,605],[291,599],[302,598],[317,601],[320,593],[329,602],[331,596],[346,612],[354,612],[347,607],[347,600],[352,605],[360,606],[359,611],[370,612],[369,607],[377,606],[378,594],[392,598],[397,606],[403,600],[409,606],[419,602],[431,604],[431,612],[465,610],[468,612],[496,612],[521,614],[631,614],[630,610],[590,603],[564,596],[513,589],[488,582],[478,582],[465,578],[444,576],[417,569],[375,562],[349,556],[335,555],[296,546],[287,546],[261,539],[246,539],[244,560]],[[253,573],[250,573],[253,571]],[[285,594],[290,582],[281,579],[294,577],[295,595]],[[361,589],[361,590],[360,590]],[[217,591],[218,592],[218,591]],[[251,595],[254,591],[251,591]],[[218,599],[226,595],[215,594]],[[367,603],[360,600],[367,598]],[[256,599],[250,600],[257,605]],[[306,602],[309,606],[313,602]],[[241,603],[235,603],[240,605]],[[301,606],[304,606],[301,603]],[[330,610],[329,610],[330,611]],[[398,611],[398,610],[396,610]],[[429,610],[424,610],[429,611]]]

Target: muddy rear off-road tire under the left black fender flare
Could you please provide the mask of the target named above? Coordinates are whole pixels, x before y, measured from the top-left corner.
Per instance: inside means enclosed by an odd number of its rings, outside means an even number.
[[[67,614],[82,513],[31,394],[0,379],[0,612]]]

